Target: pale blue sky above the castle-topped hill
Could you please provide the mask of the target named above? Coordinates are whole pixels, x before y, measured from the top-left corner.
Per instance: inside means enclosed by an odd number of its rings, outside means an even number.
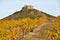
[[[33,5],[35,9],[53,16],[60,15],[60,0],[0,0],[0,18],[21,10],[24,5]]]

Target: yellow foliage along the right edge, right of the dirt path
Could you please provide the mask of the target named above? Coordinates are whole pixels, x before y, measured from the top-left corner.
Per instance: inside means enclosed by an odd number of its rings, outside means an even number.
[[[54,28],[49,33],[49,40],[60,40],[60,16],[58,16],[54,23]]]

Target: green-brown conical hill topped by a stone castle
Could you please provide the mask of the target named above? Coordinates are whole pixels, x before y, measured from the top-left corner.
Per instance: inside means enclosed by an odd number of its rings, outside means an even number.
[[[52,15],[47,14],[45,12],[34,9],[33,6],[31,7],[29,5],[26,5],[22,8],[22,10],[17,11],[15,13],[13,13],[12,15],[7,16],[3,19],[6,19],[6,20],[15,19],[15,20],[17,20],[17,19],[26,18],[26,17],[34,19],[34,18],[40,18],[43,16],[45,16],[49,20],[56,18],[55,16],[52,16]]]

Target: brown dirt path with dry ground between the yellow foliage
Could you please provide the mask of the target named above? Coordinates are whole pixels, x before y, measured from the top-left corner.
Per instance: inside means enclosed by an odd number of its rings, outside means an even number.
[[[28,33],[23,40],[49,40],[48,32],[53,29],[53,23],[43,23],[33,30],[33,32]]]

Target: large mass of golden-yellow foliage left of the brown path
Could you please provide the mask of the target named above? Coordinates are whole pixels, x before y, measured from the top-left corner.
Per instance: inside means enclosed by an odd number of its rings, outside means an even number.
[[[33,31],[38,25],[47,22],[42,18],[22,18],[19,20],[0,20],[0,40],[17,40],[21,35],[24,36]]]

